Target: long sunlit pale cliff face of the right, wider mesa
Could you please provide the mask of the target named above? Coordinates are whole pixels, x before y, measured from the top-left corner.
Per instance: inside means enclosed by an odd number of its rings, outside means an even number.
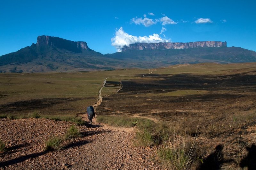
[[[188,43],[136,43],[130,44],[130,46],[124,46],[122,51],[128,49],[144,50],[144,49],[187,49],[187,48],[209,48],[209,47],[226,47],[227,42],[220,41],[197,41]]]

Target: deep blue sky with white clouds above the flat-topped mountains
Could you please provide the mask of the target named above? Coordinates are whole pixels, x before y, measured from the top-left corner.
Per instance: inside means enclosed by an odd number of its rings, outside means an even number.
[[[86,41],[103,54],[135,41],[215,40],[256,51],[255,6],[256,1],[240,0],[3,0],[0,56],[36,43],[38,35]]]

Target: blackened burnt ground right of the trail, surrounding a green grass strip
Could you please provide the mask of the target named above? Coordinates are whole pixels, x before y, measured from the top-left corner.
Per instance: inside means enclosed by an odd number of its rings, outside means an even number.
[[[118,93],[104,97],[100,106],[103,114],[111,114],[111,111],[104,110],[108,108],[131,115],[151,115],[164,121],[173,121],[177,117],[203,117],[205,121],[211,115],[225,118],[234,109],[256,109],[256,75],[148,74],[133,81],[122,81],[122,86]],[[177,90],[208,92],[199,95],[161,95]]]

